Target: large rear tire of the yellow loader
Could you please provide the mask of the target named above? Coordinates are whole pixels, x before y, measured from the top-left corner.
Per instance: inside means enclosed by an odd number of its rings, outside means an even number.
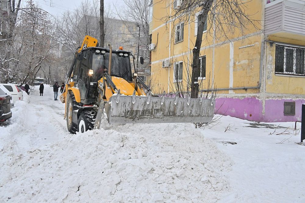
[[[68,131],[72,134],[77,132],[77,123],[78,121],[73,120],[73,111],[81,108],[81,104],[76,102],[74,94],[70,95],[69,101],[67,103],[66,115],[67,115],[67,128]]]

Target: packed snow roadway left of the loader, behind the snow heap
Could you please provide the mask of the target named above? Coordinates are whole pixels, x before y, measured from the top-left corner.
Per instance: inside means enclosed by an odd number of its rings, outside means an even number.
[[[45,85],[46,86],[46,85]],[[1,128],[0,148],[9,144],[15,153],[22,153],[59,141],[69,134],[63,120],[64,105],[54,101],[52,88],[45,87],[44,96],[39,96],[39,86],[33,88],[30,96],[23,92],[24,101],[17,101],[13,108],[13,119]],[[5,136],[9,134],[9,136]]]

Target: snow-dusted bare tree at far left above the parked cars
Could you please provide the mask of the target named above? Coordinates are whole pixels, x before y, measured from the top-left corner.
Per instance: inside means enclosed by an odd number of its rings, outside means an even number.
[[[19,12],[17,12],[19,11]],[[32,80],[41,62],[49,56],[52,47],[52,23],[48,14],[32,0],[20,8],[20,1],[9,1],[8,34],[0,46],[1,82]]]

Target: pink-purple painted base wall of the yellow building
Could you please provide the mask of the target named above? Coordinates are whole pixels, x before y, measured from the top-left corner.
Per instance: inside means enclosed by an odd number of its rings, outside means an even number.
[[[296,102],[295,116],[284,116],[284,102]],[[301,120],[304,103],[304,99],[266,99],[263,115],[263,102],[257,97],[216,98],[215,113],[257,122],[293,122]]]

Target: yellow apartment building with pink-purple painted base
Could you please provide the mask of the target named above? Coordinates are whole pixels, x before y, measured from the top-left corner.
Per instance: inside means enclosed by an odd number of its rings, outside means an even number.
[[[153,91],[175,93],[186,85],[197,32],[197,14],[187,22],[164,22],[182,0],[151,0],[151,77]],[[208,78],[217,87],[215,111],[257,122],[300,121],[305,103],[305,1],[253,0],[247,12],[260,20],[230,40],[206,30],[200,49],[201,91]],[[176,74],[174,74],[176,73]],[[175,77],[176,76],[176,77]],[[211,85],[210,84],[210,85]]]

